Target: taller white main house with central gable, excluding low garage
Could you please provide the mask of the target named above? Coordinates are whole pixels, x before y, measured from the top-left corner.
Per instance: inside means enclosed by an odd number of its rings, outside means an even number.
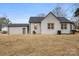
[[[64,17],[56,17],[52,12],[48,13],[46,17],[30,17],[29,33],[30,34],[69,34],[74,30],[74,23]]]

